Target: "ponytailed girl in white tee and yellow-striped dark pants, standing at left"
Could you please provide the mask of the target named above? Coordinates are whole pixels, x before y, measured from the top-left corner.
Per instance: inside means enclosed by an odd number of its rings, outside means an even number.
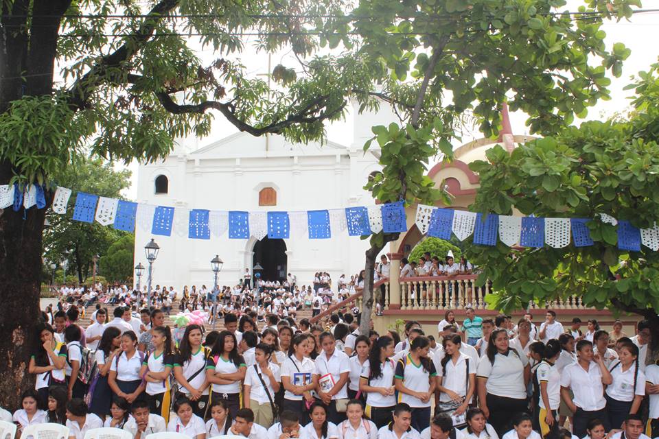
[[[167,422],[170,418],[171,403],[170,373],[174,367],[172,333],[169,327],[153,328],[151,341],[154,350],[142,362],[139,375],[146,381],[150,412],[159,414]]]

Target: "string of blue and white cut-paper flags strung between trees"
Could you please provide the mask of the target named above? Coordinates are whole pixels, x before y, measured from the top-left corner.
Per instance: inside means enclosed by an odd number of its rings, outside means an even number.
[[[51,208],[63,215],[69,209],[71,189],[58,187]],[[46,205],[43,187],[28,185],[0,185],[0,209],[12,206],[14,211]],[[599,221],[616,226],[618,248],[640,251],[641,245],[659,250],[659,226],[639,229],[629,221],[618,220],[601,213]],[[211,239],[228,233],[229,239],[288,239],[291,235],[306,235],[309,239],[329,239],[345,233],[367,236],[372,233],[402,233],[408,230],[403,202],[377,206],[354,206],[345,209],[314,211],[211,211],[172,206],[154,206],[106,198],[91,193],[76,193],[73,219],[98,222],[117,230],[134,232],[136,227],[152,235],[171,236],[172,233],[190,239]],[[419,204],[415,224],[422,235],[460,241],[472,236],[474,244],[495,246],[497,240],[507,246],[564,248],[594,244],[589,218],[542,218],[510,215],[483,215],[454,209]]]

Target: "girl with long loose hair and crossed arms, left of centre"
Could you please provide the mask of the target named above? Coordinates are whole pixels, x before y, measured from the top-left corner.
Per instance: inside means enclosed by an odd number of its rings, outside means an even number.
[[[237,345],[231,331],[220,332],[206,366],[206,378],[212,384],[211,398],[227,401],[233,419],[240,408],[240,381],[247,370]]]

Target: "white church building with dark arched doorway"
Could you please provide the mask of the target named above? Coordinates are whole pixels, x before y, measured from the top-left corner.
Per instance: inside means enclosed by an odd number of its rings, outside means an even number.
[[[363,187],[369,174],[381,169],[379,149],[377,142],[366,154],[362,147],[373,135],[371,126],[395,120],[386,104],[377,113],[354,115],[350,145],[292,144],[277,135],[253,137],[242,132],[215,141],[212,134],[206,139],[177,139],[163,161],[139,165],[137,201],[181,210],[248,212],[373,205]],[[176,229],[176,216],[174,221]],[[308,239],[291,230],[289,239],[261,241],[253,236],[229,239],[226,231],[209,240],[189,239],[187,233],[153,236],[140,227],[135,233],[135,264],[148,265],[143,247],[154,238],[161,250],[153,264],[152,285],[178,291],[184,285],[211,288],[210,261],[216,254],[224,261],[220,286],[235,285],[245,268],[252,273],[256,263],[262,265],[264,279],[283,279],[291,273],[300,285],[308,285],[319,271],[329,272],[334,281],[341,274],[358,273],[369,246],[369,241],[349,237],[345,230],[332,230],[330,239]],[[146,276],[141,285],[146,285]]]

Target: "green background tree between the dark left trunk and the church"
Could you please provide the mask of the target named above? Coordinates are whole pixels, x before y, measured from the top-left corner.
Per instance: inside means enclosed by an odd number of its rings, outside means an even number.
[[[111,163],[101,158],[80,158],[75,166],[57,171],[54,180],[58,185],[94,193],[103,197],[122,198],[121,191],[130,186],[130,171],[115,171]],[[70,205],[75,203],[71,197]],[[91,224],[73,221],[73,209],[67,209],[65,215],[52,211],[46,214],[51,226],[43,233],[44,257],[48,261],[61,263],[69,261],[67,268],[69,281],[77,274],[78,283],[91,276],[92,259],[95,254],[103,256],[113,242],[128,235],[121,230],[102,226],[97,222]],[[130,261],[132,265],[132,259]]]

